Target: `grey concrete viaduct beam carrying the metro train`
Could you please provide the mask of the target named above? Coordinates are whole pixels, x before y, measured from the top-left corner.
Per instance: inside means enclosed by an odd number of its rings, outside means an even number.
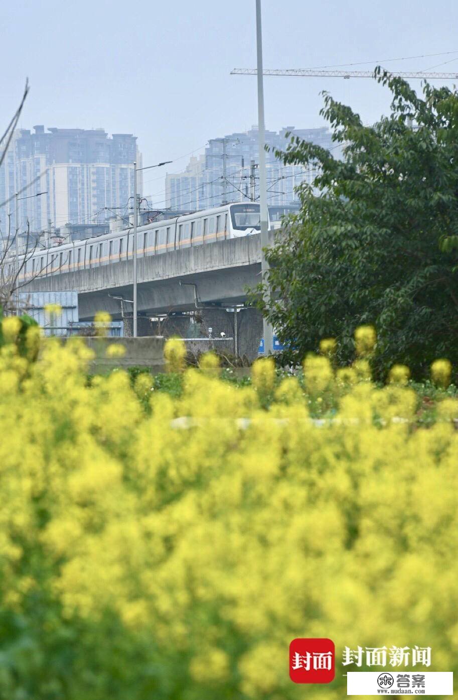
[[[270,234],[273,239],[273,233]],[[25,291],[78,292],[81,320],[97,311],[120,317],[120,302],[109,294],[131,299],[133,262],[115,262],[35,279]],[[245,287],[255,286],[261,272],[259,234],[183,248],[138,258],[138,311],[159,314],[194,308],[194,290],[179,280],[197,285],[199,300],[210,304],[236,304],[246,298]],[[131,310],[131,305],[127,305]]]

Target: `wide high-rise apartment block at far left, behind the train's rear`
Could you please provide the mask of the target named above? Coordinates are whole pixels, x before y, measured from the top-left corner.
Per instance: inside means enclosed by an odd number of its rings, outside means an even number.
[[[134,160],[141,155],[132,134],[103,129],[57,129],[42,125],[17,130],[0,168],[0,200],[29,186],[17,203],[17,221],[24,230],[47,230],[67,223],[103,223],[117,207],[127,207],[134,193]],[[30,183],[34,183],[30,186]],[[141,191],[141,183],[139,191]],[[46,192],[41,196],[36,195]],[[0,209],[6,232],[8,211],[15,230],[15,202]]]

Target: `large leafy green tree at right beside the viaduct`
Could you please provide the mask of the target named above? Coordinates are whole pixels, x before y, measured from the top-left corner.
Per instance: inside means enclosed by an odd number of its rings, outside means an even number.
[[[374,77],[393,99],[373,126],[323,93],[342,160],[297,137],[276,152],[318,174],[269,249],[271,300],[262,286],[253,297],[296,358],[334,335],[348,362],[370,323],[375,372],[421,376],[438,356],[458,364],[458,92],[424,83],[421,98],[380,67]]]

